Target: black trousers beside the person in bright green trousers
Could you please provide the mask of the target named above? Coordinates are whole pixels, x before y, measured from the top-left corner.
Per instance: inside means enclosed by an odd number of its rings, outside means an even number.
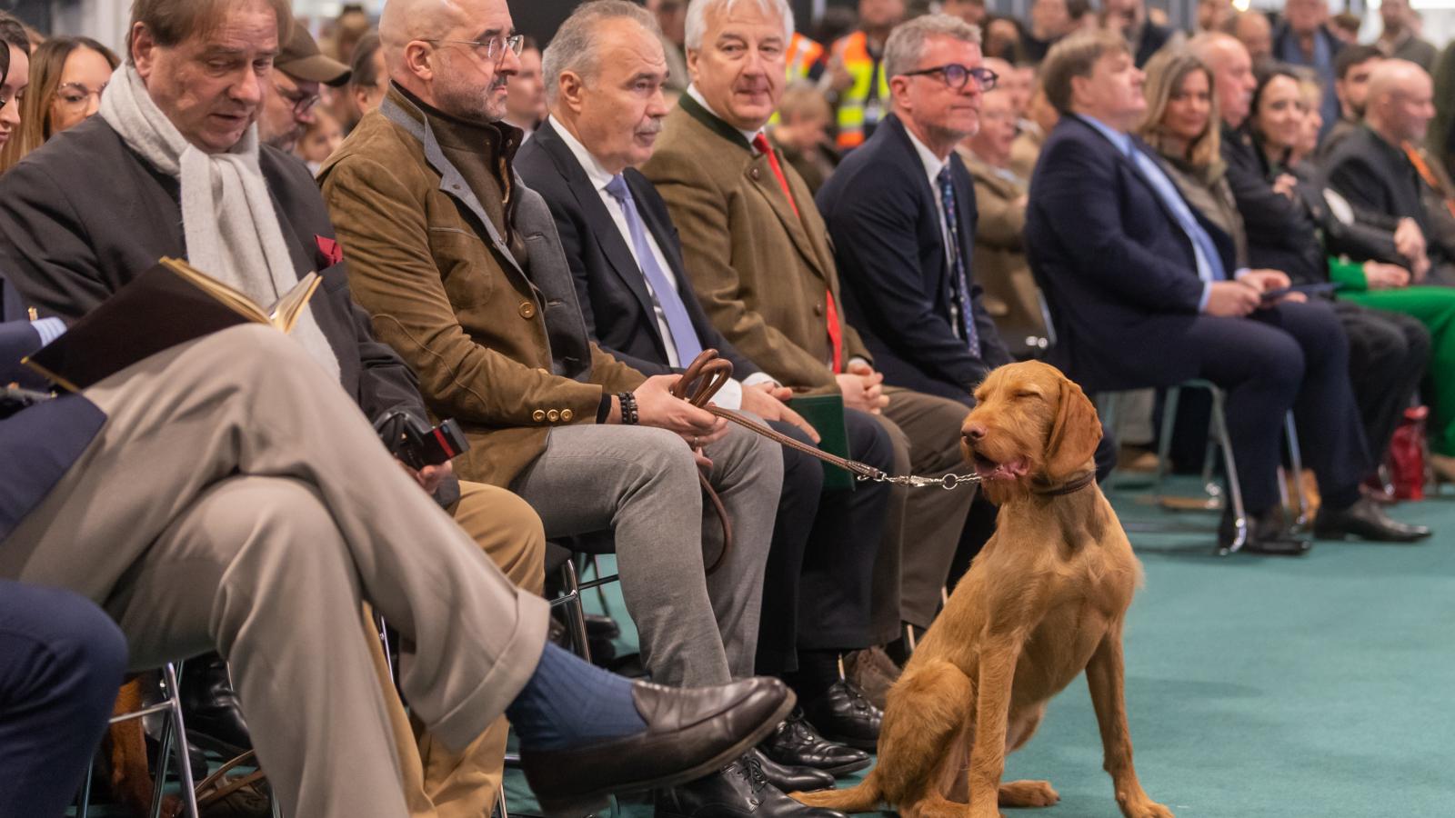
[[[1420,387],[1430,360],[1430,332],[1419,319],[1334,301],[1349,336],[1349,380],[1375,461],[1384,460],[1395,426]]]

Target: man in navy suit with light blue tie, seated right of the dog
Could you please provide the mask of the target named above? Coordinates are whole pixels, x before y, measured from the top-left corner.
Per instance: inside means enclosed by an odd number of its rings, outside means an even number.
[[[1062,119],[1032,179],[1026,245],[1061,336],[1053,361],[1087,390],[1189,378],[1225,389],[1253,550],[1310,547],[1288,533],[1279,508],[1289,408],[1318,476],[1320,536],[1427,534],[1394,523],[1359,493],[1369,454],[1333,310],[1302,297],[1264,298],[1288,285],[1276,271],[1228,269],[1228,236],[1187,205],[1128,134],[1147,102],[1125,41],[1078,35],[1058,44],[1042,76]],[[1219,536],[1232,537],[1231,512]]]

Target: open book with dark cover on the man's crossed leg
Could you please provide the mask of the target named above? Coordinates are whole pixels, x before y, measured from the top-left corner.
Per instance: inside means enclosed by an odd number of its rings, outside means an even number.
[[[185,261],[162,259],[23,362],[57,386],[80,392],[143,358],[230,326],[252,322],[288,332],[320,281],[310,272],[272,306],[260,307]]]

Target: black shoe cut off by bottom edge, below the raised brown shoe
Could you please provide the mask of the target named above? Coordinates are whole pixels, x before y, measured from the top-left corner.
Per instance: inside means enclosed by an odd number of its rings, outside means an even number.
[[[728,764],[716,776],[658,790],[656,818],[847,818],[799,803],[768,783],[755,758]]]

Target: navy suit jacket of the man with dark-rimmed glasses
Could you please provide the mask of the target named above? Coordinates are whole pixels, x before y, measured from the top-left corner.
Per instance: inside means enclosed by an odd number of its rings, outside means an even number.
[[[975,182],[957,154],[950,154],[949,167],[960,205],[960,258],[969,266]],[[981,357],[954,333],[954,277],[944,253],[940,205],[898,116],[886,116],[874,135],[844,159],[819,191],[818,207],[834,242],[848,322],[874,354],[885,383],[965,400],[986,373],[1010,362],[973,275],[970,304]]]

